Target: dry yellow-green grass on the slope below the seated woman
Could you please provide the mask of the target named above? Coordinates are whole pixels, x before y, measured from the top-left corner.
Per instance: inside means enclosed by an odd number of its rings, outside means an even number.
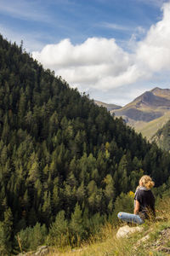
[[[66,249],[65,252],[59,252],[57,248],[51,250],[48,256],[163,256],[170,255],[170,236],[164,236],[166,230],[170,230],[170,198],[166,201],[160,201],[159,207],[156,207],[160,212],[159,216],[167,218],[167,221],[157,221],[151,223],[145,223],[142,226],[144,230],[139,233],[135,233],[127,238],[116,239],[115,228],[108,224],[99,233],[98,236],[91,239],[88,244],[82,245],[81,248],[75,250]],[[165,209],[165,212],[162,212]],[[124,224],[120,224],[124,225]],[[163,232],[161,232],[164,230]],[[150,238],[147,241],[139,241],[144,236],[149,235]],[[164,248],[164,251],[163,249]],[[166,252],[169,249],[169,253]],[[53,251],[53,253],[52,253]]]

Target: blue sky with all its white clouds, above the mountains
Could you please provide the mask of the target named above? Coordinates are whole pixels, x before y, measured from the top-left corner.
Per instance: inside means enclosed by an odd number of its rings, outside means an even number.
[[[0,32],[102,102],[170,88],[167,0],[1,0]]]

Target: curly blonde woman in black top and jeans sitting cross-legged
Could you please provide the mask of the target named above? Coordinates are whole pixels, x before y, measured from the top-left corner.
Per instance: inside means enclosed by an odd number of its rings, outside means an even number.
[[[134,224],[143,224],[145,218],[154,218],[156,216],[155,197],[150,190],[154,185],[150,176],[141,177],[134,195],[134,214],[119,212],[117,217]]]

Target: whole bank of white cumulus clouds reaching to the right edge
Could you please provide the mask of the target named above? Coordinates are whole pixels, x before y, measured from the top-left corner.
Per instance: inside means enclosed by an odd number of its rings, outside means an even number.
[[[82,91],[107,91],[150,79],[154,73],[170,69],[170,3],[164,3],[162,11],[162,19],[136,42],[131,53],[114,38],[88,38],[77,45],[67,38],[32,55]]]

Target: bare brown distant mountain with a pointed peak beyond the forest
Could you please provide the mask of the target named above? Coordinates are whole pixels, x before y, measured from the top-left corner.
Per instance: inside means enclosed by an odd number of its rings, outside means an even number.
[[[111,113],[150,139],[170,119],[170,90],[156,87]]]

